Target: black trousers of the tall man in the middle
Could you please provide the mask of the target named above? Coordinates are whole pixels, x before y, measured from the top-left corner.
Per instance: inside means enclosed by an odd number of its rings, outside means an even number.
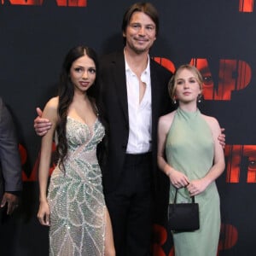
[[[105,195],[117,256],[149,255],[152,156],[126,154],[120,183]]]

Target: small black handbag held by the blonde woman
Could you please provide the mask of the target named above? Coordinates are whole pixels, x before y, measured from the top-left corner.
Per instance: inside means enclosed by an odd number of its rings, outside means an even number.
[[[199,230],[199,206],[192,196],[192,203],[176,203],[177,189],[173,204],[168,206],[168,224],[173,232]]]

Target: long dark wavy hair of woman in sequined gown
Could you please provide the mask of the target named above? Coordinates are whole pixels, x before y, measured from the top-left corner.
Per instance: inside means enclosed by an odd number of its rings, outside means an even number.
[[[90,59],[95,62],[96,65],[96,78],[98,71],[98,60],[96,52],[87,46],[77,46],[70,49],[67,53],[61,68],[61,75],[58,87],[59,105],[58,105],[58,124],[56,127],[58,135],[58,144],[56,148],[56,157],[59,160],[59,165],[61,171],[65,171],[64,160],[67,156],[67,137],[66,137],[66,125],[67,125],[67,111],[70,104],[73,101],[74,95],[74,85],[70,79],[70,68],[72,67],[73,61],[76,61],[80,57],[88,55]],[[89,96],[91,105],[97,114],[97,108],[95,103],[96,90],[94,89],[96,81],[90,88],[86,91],[87,96]]]

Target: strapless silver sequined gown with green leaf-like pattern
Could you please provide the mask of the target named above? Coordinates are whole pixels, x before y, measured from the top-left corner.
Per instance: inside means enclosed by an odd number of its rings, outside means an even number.
[[[49,183],[49,255],[104,255],[105,201],[96,145],[104,136],[96,120],[89,127],[67,117],[65,175],[58,167]]]

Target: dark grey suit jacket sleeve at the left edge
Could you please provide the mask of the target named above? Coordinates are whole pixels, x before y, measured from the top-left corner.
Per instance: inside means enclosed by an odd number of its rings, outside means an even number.
[[[0,98],[0,201],[3,192],[20,191],[21,164],[13,119]]]

